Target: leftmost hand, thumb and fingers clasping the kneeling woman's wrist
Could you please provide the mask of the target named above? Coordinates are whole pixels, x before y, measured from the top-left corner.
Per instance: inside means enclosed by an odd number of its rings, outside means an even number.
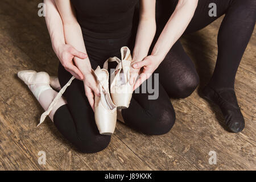
[[[63,65],[65,70],[67,70],[71,75],[75,76],[79,80],[83,80],[84,77],[79,68],[76,67],[73,63],[74,57],[79,57],[80,59],[86,59],[88,56],[86,53],[77,51],[74,47],[69,44],[63,44],[57,48],[56,55],[60,60],[60,63]]]

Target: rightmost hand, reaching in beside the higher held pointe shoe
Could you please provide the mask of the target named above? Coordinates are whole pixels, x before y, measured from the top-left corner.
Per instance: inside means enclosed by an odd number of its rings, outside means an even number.
[[[152,75],[152,73],[154,73],[156,68],[158,68],[161,62],[162,59],[160,59],[160,57],[150,55],[145,57],[142,61],[134,63],[132,65],[134,69],[133,72],[135,73],[135,71],[137,71],[138,74],[140,75],[138,80],[134,84],[133,90],[137,89],[139,85],[141,85],[145,80],[147,80],[147,78],[149,78]]]

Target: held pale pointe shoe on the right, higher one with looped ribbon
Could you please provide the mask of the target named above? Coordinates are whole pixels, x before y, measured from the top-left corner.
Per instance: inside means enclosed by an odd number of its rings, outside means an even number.
[[[109,62],[117,62],[115,71],[110,76],[110,93],[114,104],[118,109],[129,107],[133,94],[133,85],[130,85],[131,52],[128,47],[121,48],[121,60],[118,57],[110,57],[104,63],[104,69],[108,70]]]

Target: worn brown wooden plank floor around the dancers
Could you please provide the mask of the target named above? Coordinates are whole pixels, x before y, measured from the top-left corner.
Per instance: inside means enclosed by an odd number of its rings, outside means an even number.
[[[122,123],[110,145],[97,154],[81,154],[61,137],[49,118],[36,127],[43,109],[16,76],[23,69],[56,75],[58,60],[52,51],[44,18],[37,15],[39,0],[0,2],[0,169],[1,170],[245,170],[256,169],[255,160],[255,31],[236,77],[236,93],[246,127],[240,134],[222,127],[217,107],[194,92],[172,100],[176,111],[173,129],[162,136],[146,136]],[[221,19],[183,38],[195,61],[201,86],[210,78],[217,56],[217,31]],[[38,152],[46,152],[46,164]],[[210,165],[209,151],[217,164]]]

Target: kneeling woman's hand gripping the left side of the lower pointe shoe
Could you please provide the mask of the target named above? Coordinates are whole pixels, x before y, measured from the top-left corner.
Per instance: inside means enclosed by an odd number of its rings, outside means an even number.
[[[84,89],[85,95],[88,98],[89,104],[94,111],[94,94],[95,93],[98,97],[101,96],[100,91],[97,88],[96,78],[92,74],[92,71],[88,71],[84,73]]]

